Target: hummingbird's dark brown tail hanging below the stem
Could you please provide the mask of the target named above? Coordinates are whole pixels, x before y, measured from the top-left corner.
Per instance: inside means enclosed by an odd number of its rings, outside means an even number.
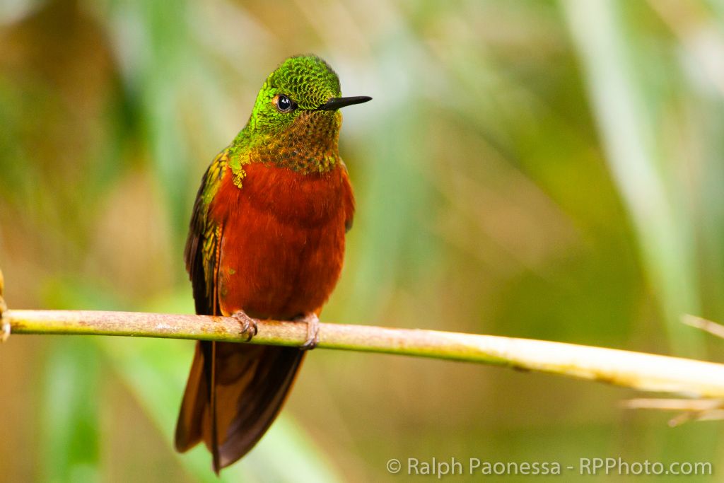
[[[176,449],[203,440],[214,471],[248,453],[282,408],[305,351],[199,342],[176,424]]]

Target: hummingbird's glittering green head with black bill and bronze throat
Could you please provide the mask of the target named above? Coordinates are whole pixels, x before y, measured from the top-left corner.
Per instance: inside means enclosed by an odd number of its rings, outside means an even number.
[[[235,143],[251,148],[255,161],[324,172],[339,162],[337,109],[369,100],[342,97],[339,77],[318,56],[293,56],[266,78]]]

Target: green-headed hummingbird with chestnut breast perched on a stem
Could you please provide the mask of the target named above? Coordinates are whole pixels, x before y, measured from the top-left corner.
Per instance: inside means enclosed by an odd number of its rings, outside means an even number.
[[[340,158],[337,74],[314,55],[271,72],[243,130],[211,162],[184,257],[197,314],[306,324],[301,348],[200,341],[176,426],[180,452],[203,441],[216,474],[248,453],[277,417],[342,270],[355,201]]]

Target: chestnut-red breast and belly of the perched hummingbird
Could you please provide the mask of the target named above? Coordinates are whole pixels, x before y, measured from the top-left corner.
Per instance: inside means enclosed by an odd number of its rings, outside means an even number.
[[[334,289],[353,196],[343,167],[302,174],[253,163],[222,209],[219,300],[222,312],[290,319],[319,311]],[[227,180],[230,176],[226,177]]]

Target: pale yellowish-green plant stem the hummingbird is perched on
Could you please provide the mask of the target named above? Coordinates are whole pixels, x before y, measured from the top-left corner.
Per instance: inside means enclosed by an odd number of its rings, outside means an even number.
[[[3,315],[13,334],[123,335],[244,343],[246,335],[230,317],[108,311],[9,310]],[[299,346],[306,325],[258,321],[252,344]],[[628,350],[544,340],[320,324],[318,348],[510,366],[516,369],[592,379],[638,390],[724,398],[724,365]]]

